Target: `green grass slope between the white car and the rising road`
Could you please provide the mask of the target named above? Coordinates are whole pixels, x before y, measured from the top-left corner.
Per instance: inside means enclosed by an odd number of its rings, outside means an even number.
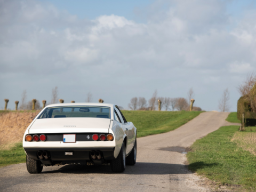
[[[129,111],[123,110],[127,121],[137,127],[137,136],[165,133],[177,129],[201,111]]]

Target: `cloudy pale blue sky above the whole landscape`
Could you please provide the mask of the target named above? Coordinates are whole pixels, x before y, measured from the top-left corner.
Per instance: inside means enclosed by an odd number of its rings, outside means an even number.
[[[230,111],[256,71],[256,3],[241,0],[0,0],[0,109],[21,100],[184,97]]]

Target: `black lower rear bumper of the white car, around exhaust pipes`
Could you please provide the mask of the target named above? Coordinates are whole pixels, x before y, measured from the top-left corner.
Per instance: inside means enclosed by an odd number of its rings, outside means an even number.
[[[84,147],[84,148],[49,148],[49,147],[24,147],[27,155],[35,160],[39,160],[37,156],[38,151],[47,151],[51,161],[69,161],[69,162],[77,162],[77,161],[90,161],[90,151],[100,151],[103,156],[103,159],[109,161],[114,157],[115,147]],[[73,155],[65,155],[65,152],[73,152]]]

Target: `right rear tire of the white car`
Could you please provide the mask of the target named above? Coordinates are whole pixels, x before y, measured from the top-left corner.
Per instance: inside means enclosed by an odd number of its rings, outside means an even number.
[[[122,173],[125,170],[125,165],[126,165],[126,161],[125,161],[125,145],[123,143],[121,150],[117,156],[116,159],[113,159],[110,163],[111,165],[111,170],[115,173]]]

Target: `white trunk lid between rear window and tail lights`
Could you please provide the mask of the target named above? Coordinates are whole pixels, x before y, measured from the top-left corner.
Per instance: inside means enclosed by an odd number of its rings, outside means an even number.
[[[36,119],[29,134],[36,133],[108,133],[109,118],[45,118]]]

